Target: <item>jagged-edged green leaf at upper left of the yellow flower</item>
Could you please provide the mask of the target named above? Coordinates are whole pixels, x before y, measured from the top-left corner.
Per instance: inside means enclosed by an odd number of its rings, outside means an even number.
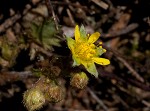
[[[33,39],[43,45],[45,49],[51,50],[52,46],[61,46],[60,39],[55,36],[58,31],[52,19],[45,20],[41,25],[33,23],[31,30]]]

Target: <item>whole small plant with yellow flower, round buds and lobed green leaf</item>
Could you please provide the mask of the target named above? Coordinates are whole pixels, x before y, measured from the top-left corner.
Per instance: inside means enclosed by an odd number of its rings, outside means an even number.
[[[53,21],[45,21],[43,23],[42,25],[32,25],[32,40],[38,45],[42,45],[45,50],[52,51],[52,46],[60,46],[60,39],[55,36],[58,32],[54,27]],[[80,29],[78,25],[75,27],[75,40],[71,37],[66,38],[66,45],[71,50],[74,60],[73,67],[70,65],[69,59],[67,61],[62,60],[61,64],[58,64],[59,57],[56,57],[55,54],[51,60],[46,60],[46,57],[43,56],[43,60],[39,61],[39,65],[32,70],[39,77],[39,80],[23,96],[24,105],[29,111],[40,109],[46,101],[55,103],[64,98],[64,90],[59,85],[58,78],[65,79],[66,77],[70,77],[70,85],[72,87],[77,89],[85,88],[89,78],[85,72],[81,71],[80,64],[90,74],[98,77],[94,63],[100,65],[110,64],[108,59],[99,57],[106,52],[101,45],[96,46],[94,44],[99,36],[99,32],[95,32],[91,36],[87,35],[83,25]],[[64,66],[67,66],[67,68],[64,68]],[[78,72],[71,70],[74,66],[78,66]]]

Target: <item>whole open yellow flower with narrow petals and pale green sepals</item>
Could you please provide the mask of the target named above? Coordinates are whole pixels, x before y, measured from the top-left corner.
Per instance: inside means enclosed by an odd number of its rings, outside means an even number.
[[[82,64],[89,73],[98,77],[95,64],[108,65],[110,61],[99,56],[106,52],[102,46],[97,47],[94,42],[99,38],[100,33],[95,32],[91,36],[86,34],[84,26],[75,27],[75,40],[71,37],[67,37],[67,44],[72,52],[72,58],[74,60],[73,66],[79,66]]]

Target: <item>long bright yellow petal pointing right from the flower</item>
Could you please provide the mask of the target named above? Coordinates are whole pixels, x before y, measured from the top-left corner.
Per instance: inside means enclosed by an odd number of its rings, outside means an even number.
[[[108,59],[105,59],[105,58],[93,57],[92,60],[93,60],[93,62],[100,64],[100,65],[110,64],[110,61]]]

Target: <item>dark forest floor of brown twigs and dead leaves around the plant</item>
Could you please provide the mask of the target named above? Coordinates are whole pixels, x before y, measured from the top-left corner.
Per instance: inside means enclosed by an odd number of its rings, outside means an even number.
[[[64,89],[62,101],[40,111],[150,111],[149,11],[149,0],[0,0],[0,111],[26,111],[23,93],[39,73],[55,73]],[[77,24],[101,34],[110,64],[96,64],[98,78],[71,67],[65,37]],[[89,78],[82,90],[69,85],[67,74],[78,70]]]

